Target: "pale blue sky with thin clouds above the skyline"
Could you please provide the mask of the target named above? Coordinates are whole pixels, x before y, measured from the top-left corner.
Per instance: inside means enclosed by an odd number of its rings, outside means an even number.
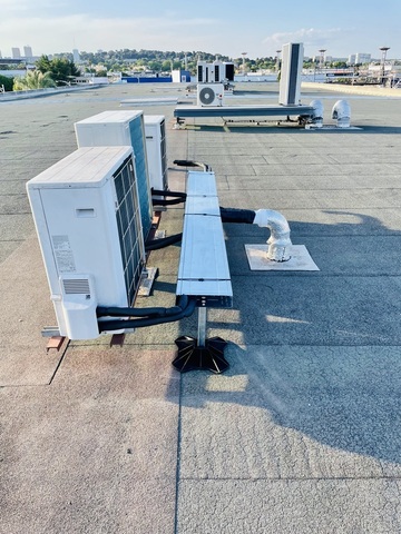
[[[98,49],[275,56],[303,42],[305,56],[366,52],[401,58],[401,0],[0,0],[0,50],[36,56]]]

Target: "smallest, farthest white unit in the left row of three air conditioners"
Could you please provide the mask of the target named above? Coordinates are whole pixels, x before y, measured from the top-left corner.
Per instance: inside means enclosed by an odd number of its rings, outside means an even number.
[[[150,187],[168,189],[166,121],[163,115],[145,115],[146,154]]]

